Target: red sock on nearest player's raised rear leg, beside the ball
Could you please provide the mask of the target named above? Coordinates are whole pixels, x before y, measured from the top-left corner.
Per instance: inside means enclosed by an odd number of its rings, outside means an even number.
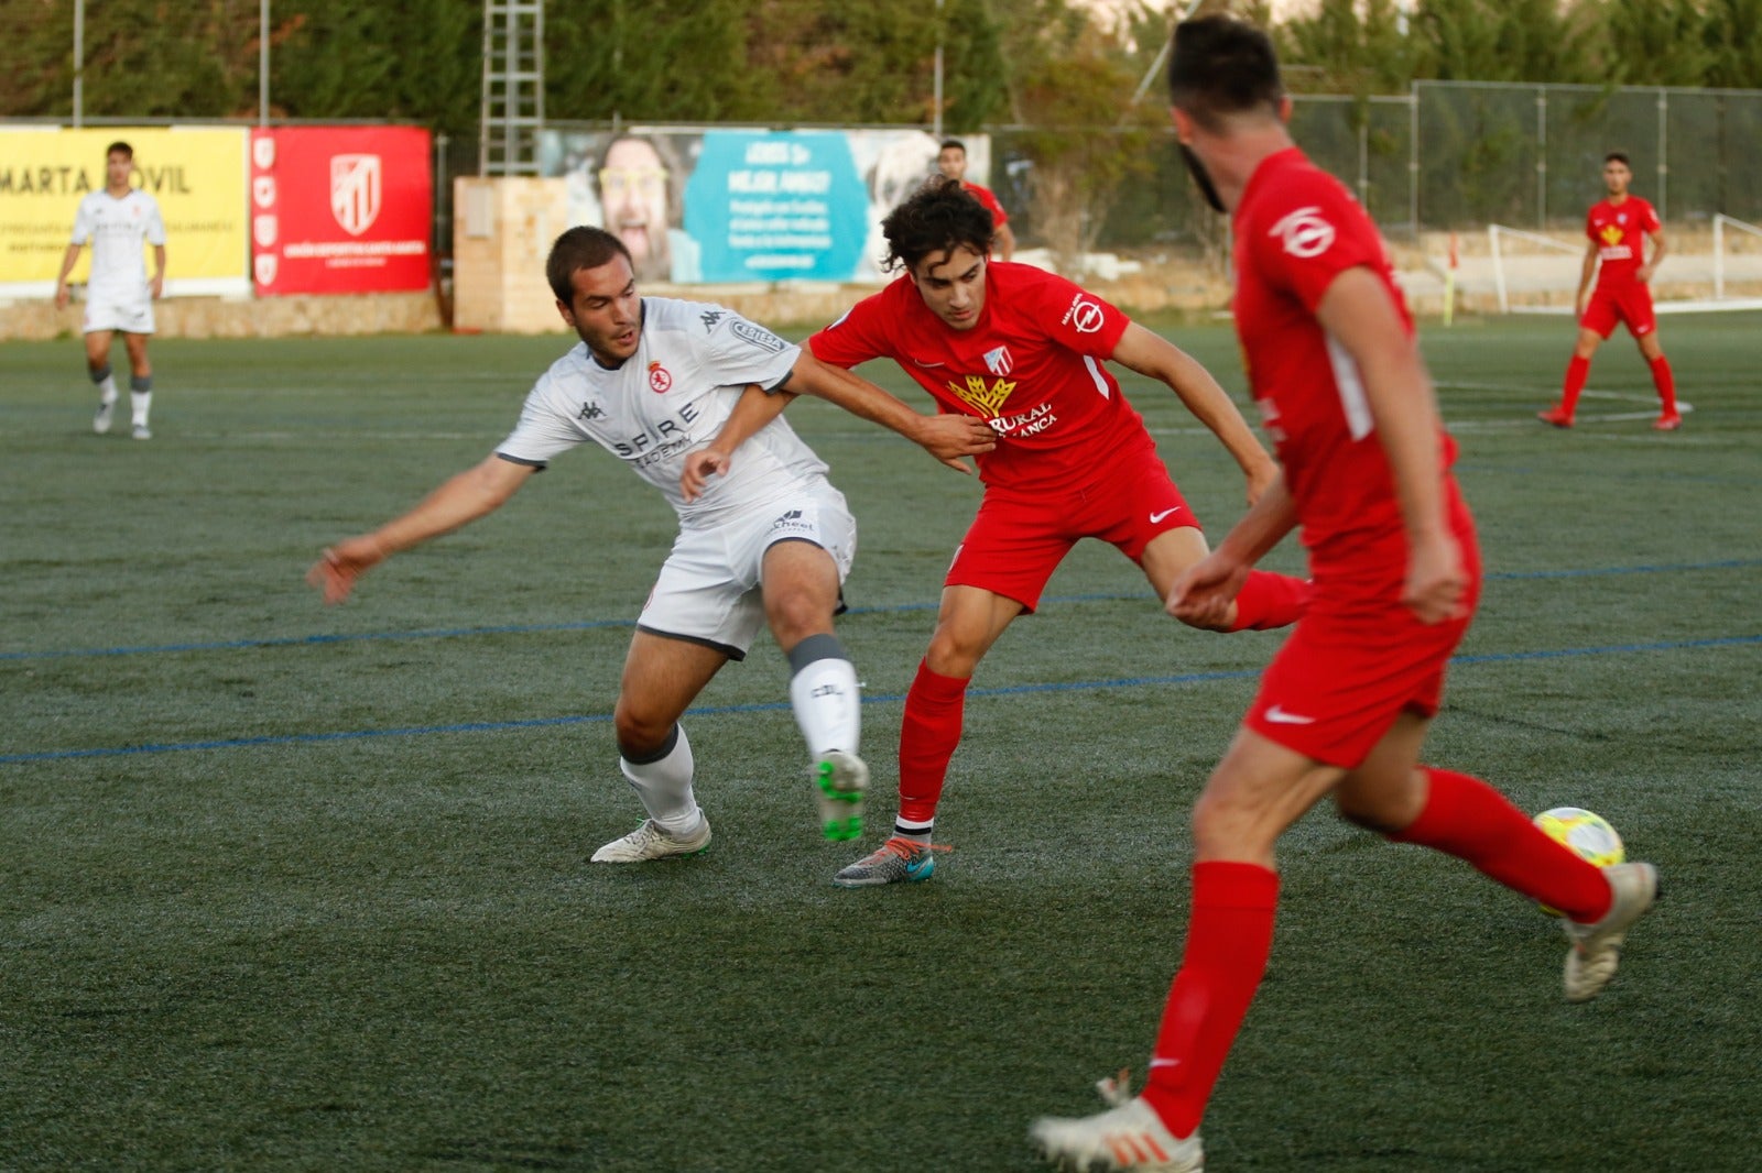
[[[1595,863],[1549,838],[1480,778],[1422,770],[1431,782],[1425,808],[1408,830],[1388,838],[1468,859],[1507,888],[1561,909],[1575,921],[1603,919],[1612,896]]]

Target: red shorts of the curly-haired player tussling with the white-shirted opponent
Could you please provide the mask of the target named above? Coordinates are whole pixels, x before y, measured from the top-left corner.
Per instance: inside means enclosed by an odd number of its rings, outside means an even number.
[[[987,490],[943,585],[978,586],[1033,611],[1047,579],[1080,539],[1099,537],[1136,562],[1152,537],[1184,527],[1196,528],[1198,518],[1156,449],[1145,447],[1077,493]]]

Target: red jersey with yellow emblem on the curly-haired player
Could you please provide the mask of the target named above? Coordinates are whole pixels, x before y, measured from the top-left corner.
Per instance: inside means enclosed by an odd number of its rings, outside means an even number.
[[[987,486],[1048,493],[1082,488],[1117,456],[1156,447],[1101,365],[1129,324],[1055,273],[992,261],[971,329],[939,319],[904,275],[807,347],[835,366],[893,359],[941,410],[990,421],[997,447],[976,458]]]

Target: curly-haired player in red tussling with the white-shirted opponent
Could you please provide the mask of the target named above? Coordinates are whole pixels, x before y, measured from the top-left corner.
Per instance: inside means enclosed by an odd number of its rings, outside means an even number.
[[[978,456],[985,498],[943,585],[930,648],[906,696],[893,837],[839,872],[846,888],[929,879],[930,830],[960,743],[967,682],[992,643],[1040,602],[1084,537],[1112,542],[1165,599],[1205,557],[1198,520],[1168,479],[1144,419],[1103,359],[1168,384],[1247,477],[1253,502],[1277,467],[1196,361],[1071,282],[987,261],[992,218],[953,180],[932,180],[883,222],[906,273],[807,340],[823,363],[895,359],[944,412],[981,416],[997,447]],[[1207,625],[1283,627],[1302,579],[1256,571]]]

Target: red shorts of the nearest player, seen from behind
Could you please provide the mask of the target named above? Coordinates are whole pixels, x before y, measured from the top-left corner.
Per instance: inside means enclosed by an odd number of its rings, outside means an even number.
[[[1401,604],[1404,541],[1385,544],[1374,564],[1316,567],[1309,606],[1262,675],[1242,724],[1306,757],[1350,770],[1403,712],[1436,715],[1445,666],[1480,601],[1480,550],[1461,498],[1452,500],[1450,521],[1468,571],[1462,618],[1422,623]]]

